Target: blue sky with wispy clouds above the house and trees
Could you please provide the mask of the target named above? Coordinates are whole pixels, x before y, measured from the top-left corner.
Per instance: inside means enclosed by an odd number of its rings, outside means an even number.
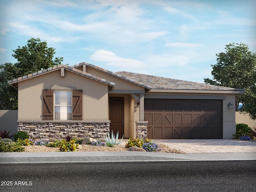
[[[0,0],[0,64],[30,38],[72,66],[88,62],[194,82],[226,44],[256,52],[255,0]]]

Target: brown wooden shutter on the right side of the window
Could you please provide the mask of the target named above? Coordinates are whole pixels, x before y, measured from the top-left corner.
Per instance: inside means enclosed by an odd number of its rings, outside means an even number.
[[[73,118],[72,120],[83,120],[83,90],[73,90]]]

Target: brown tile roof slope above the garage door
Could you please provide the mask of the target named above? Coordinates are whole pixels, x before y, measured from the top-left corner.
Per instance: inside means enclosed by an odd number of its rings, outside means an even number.
[[[172,78],[164,78],[152,75],[145,75],[132,72],[115,72],[116,74],[126,76],[143,84],[147,84],[152,89],[169,89],[169,90],[225,90],[225,91],[243,91],[241,89],[177,80]]]

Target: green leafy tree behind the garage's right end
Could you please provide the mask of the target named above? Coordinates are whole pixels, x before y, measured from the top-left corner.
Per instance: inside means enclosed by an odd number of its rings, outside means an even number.
[[[214,80],[204,78],[204,82],[243,89],[244,94],[236,96],[236,110],[242,103],[244,111],[256,119],[256,53],[250,52],[243,43],[228,44],[225,50],[216,54],[217,64],[211,65]]]

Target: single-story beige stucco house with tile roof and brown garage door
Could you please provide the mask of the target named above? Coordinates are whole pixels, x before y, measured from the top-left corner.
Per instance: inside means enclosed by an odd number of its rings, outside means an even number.
[[[230,139],[235,97],[244,90],[88,63],[58,65],[8,81],[18,89],[18,131],[30,138],[68,135],[124,138]]]

